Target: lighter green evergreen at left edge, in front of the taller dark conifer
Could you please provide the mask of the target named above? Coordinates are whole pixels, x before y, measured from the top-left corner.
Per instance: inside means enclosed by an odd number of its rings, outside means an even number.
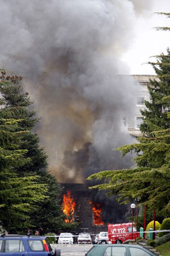
[[[2,101],[1,101],[2,102]],[[29,213],[36,203],[45,199],[45,184],[38,184],[38,176],[19,177],[15,168],[29,162],[26,150],[20,150],[24,131],[18,131],[21,120],[4,119],[0,111],[0,220],[8,232],[27,229]]]

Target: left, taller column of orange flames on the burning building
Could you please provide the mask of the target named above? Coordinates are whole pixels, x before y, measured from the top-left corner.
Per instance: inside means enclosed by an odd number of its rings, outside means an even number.
[[[74,212],[75,212],[75,201],[73,197],[71,197],[71,191],[67,191],[67,194],[63,195],[63,204],[62,210],[66,215],[65,222],[73,222],[74,221]]]

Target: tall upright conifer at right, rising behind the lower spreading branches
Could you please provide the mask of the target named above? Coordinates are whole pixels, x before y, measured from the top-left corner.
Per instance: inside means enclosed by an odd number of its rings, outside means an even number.
[[[141,110],[143,123],[140,130],[146,136],[152,137],[152,131],[158,129],[167,129],[170,127],[170,120],[167,117],[169,107],[163,100],[170,95],[170,51],[167,49],[167,55],[163,53],[157,56],[156,63],[149,63],[155,69],[157,79],[150,80],[148,92],[150,101],[145,101],[146,109]]]

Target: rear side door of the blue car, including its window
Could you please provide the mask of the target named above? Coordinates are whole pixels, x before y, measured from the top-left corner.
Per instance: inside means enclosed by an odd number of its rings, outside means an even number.
[[[3,240],[3,247],[1,256],[28,256],[24,243],[20,239],[5,239]]]

